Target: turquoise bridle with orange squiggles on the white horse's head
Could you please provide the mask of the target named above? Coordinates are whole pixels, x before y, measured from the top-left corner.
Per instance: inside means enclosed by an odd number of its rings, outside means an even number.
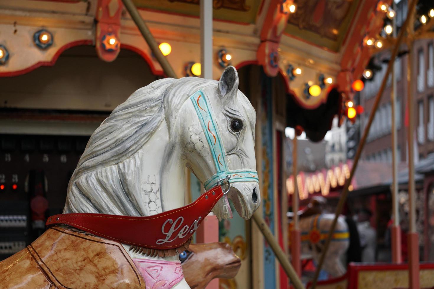
[[[231,183],[259,182],[258,173],[254,170],[228,169],[223,142],[220,138],[217,123],[214,121],[215,117],[212,113],[207,96],[200,90],[193,94],[190,99],[193,103],[194,109],[196,110],[202,130],[204,130],[208,145],[210,146],[211,156],[214,160],[214,166],[217,172],[204,183],[205,190],[209,190],[216,186],[219,179],[224,179],[228,175],[230,175]]]

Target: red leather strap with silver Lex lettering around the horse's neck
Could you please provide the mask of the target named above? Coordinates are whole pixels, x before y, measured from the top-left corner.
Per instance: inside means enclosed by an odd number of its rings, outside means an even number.
[[[46,226],[66,224],[123,244],[160,250],[174,249],[194,234],[221,196],[223,191],[217,186],[189,205],[152,216],[57,214],[48,218]]]

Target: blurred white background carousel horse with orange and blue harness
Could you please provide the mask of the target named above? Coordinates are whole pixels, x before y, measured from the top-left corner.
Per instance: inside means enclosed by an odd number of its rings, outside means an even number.
[[[301,253],[312,257],[318,264],[323,247],[335,214],[316,214],[300,218]],[[345,217],[339,216],[329,250],[324,259],[322,270],[333,277],[343,275],[346,270],[343,263],[350,245],[349,227]]]

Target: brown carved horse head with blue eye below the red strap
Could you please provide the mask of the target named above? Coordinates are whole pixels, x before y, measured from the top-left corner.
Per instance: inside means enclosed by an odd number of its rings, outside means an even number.
[[[227,243],[190,244],[179,259],[192,289],[205,288],[214,278],[233,278],[241,266],[240,257]]]

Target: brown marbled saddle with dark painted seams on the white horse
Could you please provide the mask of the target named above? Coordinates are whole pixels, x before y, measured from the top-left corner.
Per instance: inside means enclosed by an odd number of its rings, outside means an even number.
[[[65,227],[47,229],[0,262],[0,288],[146,288],[124,247]]]

